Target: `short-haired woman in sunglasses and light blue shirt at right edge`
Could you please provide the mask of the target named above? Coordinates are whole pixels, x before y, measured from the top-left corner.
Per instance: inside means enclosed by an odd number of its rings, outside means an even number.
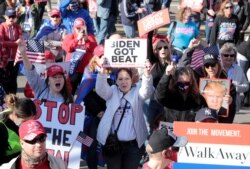
[[[225,43],[221,49],[221,63],[227,73],[227,77],[232,80],[236,89],[236,111],[238,112],[241,106],[240,93],[247,92],[249,82],[242,68],[236,64],[237,49],[232,43]]]

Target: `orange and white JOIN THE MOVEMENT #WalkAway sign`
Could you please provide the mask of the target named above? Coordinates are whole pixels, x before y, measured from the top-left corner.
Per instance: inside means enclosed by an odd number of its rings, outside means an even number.
[[[249,168],[250,125],[175,121],[173,128],[177,136],[188,138],[178,162]]]

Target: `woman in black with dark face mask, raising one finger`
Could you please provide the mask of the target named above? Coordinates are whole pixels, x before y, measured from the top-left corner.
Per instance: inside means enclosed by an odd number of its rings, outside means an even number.
[[[195,112],[205,103],[199,93],[193,70],[171,63],[155,91],[155,99],[164,106],[164,121],[194,121]]]

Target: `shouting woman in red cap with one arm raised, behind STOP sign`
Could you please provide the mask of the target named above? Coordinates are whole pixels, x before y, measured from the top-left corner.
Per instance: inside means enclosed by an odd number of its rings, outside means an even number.
[[[59,65],[50,66],[47,69],[47,78],[44,80],[29,61],[26,55],[25,43],[23,41],[19,42],[18,47],[23,57],[24,74],[35,92],[35,98],[45,101],[72,103],[73,97],[67,87],[64,69]]]

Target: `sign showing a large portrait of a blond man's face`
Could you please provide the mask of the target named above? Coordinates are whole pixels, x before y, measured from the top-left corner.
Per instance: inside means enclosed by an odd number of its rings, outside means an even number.
[[[229,104],[225,102],[224,97],[230,93],[230,83],[228,79],[200,79],[200,93],[208,108],[216,110],[221,117],[228,117]]]

